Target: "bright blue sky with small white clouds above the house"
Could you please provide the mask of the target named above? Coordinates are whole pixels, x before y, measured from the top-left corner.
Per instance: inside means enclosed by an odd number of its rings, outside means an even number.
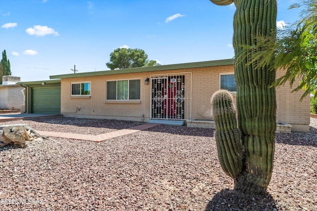
[[[278,23],[293,23],[298,0],[278,0]],[[108,70],[118,47],[141,48],[160,64],[229,59],[233,4],[209,0],[0,0],[0,51],[21,81]],[[0,54],[1,55],[1,54]]]

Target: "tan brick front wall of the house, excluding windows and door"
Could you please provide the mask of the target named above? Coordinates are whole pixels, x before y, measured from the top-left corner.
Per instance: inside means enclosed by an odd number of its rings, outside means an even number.
[[[61,80],[61,114],[71,117],[106,118],[118,120],[149,121],[151,112],[151,85],[145,85],[152,74],[192,73],[191,119],[211,120],[211,95],[219,89],[219,74],[233,73],[233,65],[191,68],[145,73],[66,78]],[[280,73],[279,73],[280,74]],[[106,81],[141,80],[141,100],[137,102],[106,101]],[[91,82],[90,97],[71,97],[71,83]],[[294,130],[309,129],[309,98],[300,102],[302,92],[290,93],[290,88],[277,89],[277,121],[294,125]],[[81,110],[76,110],[77,107]],[[144,116],[143,116],[144,115]]]

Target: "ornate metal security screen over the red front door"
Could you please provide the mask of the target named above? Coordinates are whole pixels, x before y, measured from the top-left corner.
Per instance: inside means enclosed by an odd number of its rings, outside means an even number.
[[[185,92],[185,75],[165,75],[151,77],[151,118],[184,120],[191,101]]]

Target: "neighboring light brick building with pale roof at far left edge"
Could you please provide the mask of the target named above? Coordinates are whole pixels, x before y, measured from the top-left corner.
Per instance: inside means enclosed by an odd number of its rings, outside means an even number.
[[[2,76],[0,85],[0,109],[19,110],[24,107],[24,88],[16,83],[20,77]]]

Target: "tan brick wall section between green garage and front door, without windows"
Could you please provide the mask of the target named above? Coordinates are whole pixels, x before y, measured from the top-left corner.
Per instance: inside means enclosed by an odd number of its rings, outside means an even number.
[[[85,77],[61,80],[61,114],[65,116],[86,116],[88,118],[106,118],[118,120],[145,121],[150,119],[150,85],[145,85],[146,73]],[[140,101],[106,101],[106,81],[141,80]],[[90,97],[71,97],[71,83],[91,82]],[[76,108],[81,107],[80,111]]]

